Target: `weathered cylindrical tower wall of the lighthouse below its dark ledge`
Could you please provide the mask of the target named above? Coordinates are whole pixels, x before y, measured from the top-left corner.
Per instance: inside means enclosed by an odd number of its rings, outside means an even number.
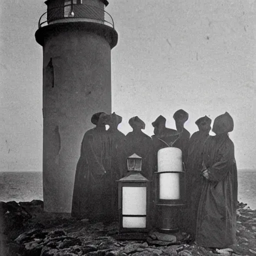
[[[45,211],[71,211],[80,143],[98,111],[111,111],[108,42],[78,29],[51,34],[43,46]]]

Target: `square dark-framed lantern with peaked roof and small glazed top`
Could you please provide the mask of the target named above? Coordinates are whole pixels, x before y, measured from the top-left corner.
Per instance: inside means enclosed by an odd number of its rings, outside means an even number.
[[[127,158],[128,174],[118,180],[119,231],[147,232],[149,229],[149,185],[140,174],[142,158]]]

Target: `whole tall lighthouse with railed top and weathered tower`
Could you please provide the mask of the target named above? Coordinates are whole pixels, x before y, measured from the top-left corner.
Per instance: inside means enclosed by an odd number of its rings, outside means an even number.
[[[111,49],[117,32],[106,0],[47,0],[43,49],[44,211],[71,212],[80,143],[92,114],[111,112]]]

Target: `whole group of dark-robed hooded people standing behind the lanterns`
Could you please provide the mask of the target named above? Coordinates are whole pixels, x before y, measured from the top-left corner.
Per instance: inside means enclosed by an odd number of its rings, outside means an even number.
[[[129,119],[133,130],[124,135],[117,129],[121,116],[114,112],[93,114],[91,122],[95,127],[85,132],[81,143],[71,215],[95,221],[117,220],[116,180],[127,174],[127,157],[133,153],[141,156],[141,174],[153,180],[157,151],[172,146],[181,149],[185,166],[185,231],[204,247],[224,248],[235,243],[237,170],[234,145],[228,136],[233,119],[227,112],[217,116],[212,126],[216,135],[211,136],[211,119],[205,115],[195,121],[199,130],[190,136],[184,128],[188,113],[179,109],[173,118],[176,129],[165,127],[166,119],[158,116],[152,122],[154,135],[150,137],[141,131],[145,123],[138,116]],[[109,125],[107,130],[105,125]]]

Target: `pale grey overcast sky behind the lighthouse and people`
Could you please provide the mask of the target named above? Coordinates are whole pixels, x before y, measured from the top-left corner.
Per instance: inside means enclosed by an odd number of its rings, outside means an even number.
[[[0,170],[42,169],[42,0],[0,0]],[[112,110],[131,130],[138,115],[189,113],[185,127],[228,111],[238,168],[255,164],[255,0],[109,0],[119,40],[112,49]],[[80,145],[77,145],[80,146]]]

